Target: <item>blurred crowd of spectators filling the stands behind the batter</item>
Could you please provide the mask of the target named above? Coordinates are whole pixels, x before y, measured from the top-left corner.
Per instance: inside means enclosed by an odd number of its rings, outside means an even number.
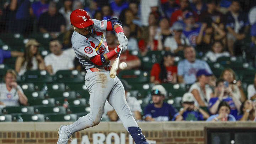
[[[137,121],[256,121],[254,0],[1,0],[0,114],[10,106],[34,105],[19,85],[30,82],[24,79],[31,70],[53,79],[62,70],[85,74],[71,46],[69,16],[75,9],[97,20],[122,21],[128,50],[120,63],[127,69],[118,76]],[[115,33],[104,35],[113,50]],[[15,38],[23,38],[23,45],[15,45]],[[139,71],[147,79],[140,82],[123,71]],[[148,86],[143,85],[144,97],[133,94],[136,83]],[[42,99],[49,98],[46,85],[34,90],[43,92]],[[186,90],[170,95],[177,86]],[[54,106],[66,104],[57,97]],[[108,102],[104,113],[103,120],[119,121]]]

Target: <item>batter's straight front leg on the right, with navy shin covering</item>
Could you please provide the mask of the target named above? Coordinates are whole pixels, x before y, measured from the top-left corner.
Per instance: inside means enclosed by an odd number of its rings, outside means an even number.
[[[132,135],[136,144],[148,144],[142,130],[138,127],[132,112],[126,102],[124,87],[121,81],[116,77],[114,78],[115,86],[108,97],[108,102],[117,112],[118,117],[121,119],[124,128]]]

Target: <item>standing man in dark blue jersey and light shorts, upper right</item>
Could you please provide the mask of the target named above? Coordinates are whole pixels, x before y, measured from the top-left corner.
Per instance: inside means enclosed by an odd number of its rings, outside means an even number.
[[[239,1],[233,0],[230,5],[230,12],[225,15],[225,27],[228,30],[228,49],[231,55],[235,55],[234,42],[244,39],[246,32],[249,30],[248,17],[239,10],[241,10]]]

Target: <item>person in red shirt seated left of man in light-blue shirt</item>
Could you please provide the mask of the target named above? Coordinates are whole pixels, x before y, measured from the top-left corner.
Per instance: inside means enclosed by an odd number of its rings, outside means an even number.
[[[160,64],[154,63],[150,71],[150,82],[154,84],[177,82],[177,66],[174,66],[174,55],[171,52],[165,52]]]

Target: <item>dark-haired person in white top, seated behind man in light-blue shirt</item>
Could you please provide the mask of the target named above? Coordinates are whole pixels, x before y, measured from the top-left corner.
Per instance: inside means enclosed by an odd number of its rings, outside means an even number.
[[[216,62],[220,57],[230,57],[230,54],[229,52],[224,51],[222,41],[215,41],[212,45],[212,49],[205,54],[203,59],[210,60],[210,62]]]

